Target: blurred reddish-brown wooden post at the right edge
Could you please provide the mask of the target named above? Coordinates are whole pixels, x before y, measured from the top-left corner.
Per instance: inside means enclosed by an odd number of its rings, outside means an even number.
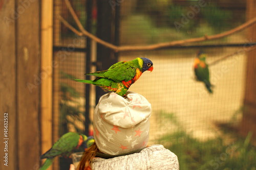
[[[256,17],[256,1],[247,0],[247,20]],[[256,25],[248,29],[247,39],[256,41]],[[246,136],[252,131],[256,137],[256,50],[247,53],[244,113],[240,132]]]

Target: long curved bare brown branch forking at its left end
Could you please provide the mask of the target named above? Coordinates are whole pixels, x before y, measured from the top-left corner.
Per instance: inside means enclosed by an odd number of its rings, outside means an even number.
[[[229,36],[231,34],[237,33],[239,31],[244,30],[247,27],[252,26],[255,22],[256,22],[256,17],[243,23],[243,25],[234,28],[232,30],[226,31],[224,33],[220,33],[220,34],[216,34],[216,35],[205,35],[203,37],[198,37],[198,38],[190,38],[190,39],[185,39],[185,40],[177,40],[177,41],[170,41],[170,42],[162,42],[162,43],[157,43],[157,44],[152,44],[152,45],[125,45],[125,46],[116,46],[113,45],[109,42],[103,41],[101,39],[99,39],[98,37],[96,37],[95,35],[89,33],[88,31],[86,31],[83,27],[81,22],[79,21],[74,9],[72,8],[69,0],[65,0],[66,5],[73,17],[73,19],[75,20],[79,30],[75,30],[65,19],[63,19],[61,17],[61,21],[62,23],[67,26],[68,28],[72,29],[72,31],[78,35],[83,35],[83,36],[87,36],[93,40],[95,40],[96,42],[111,48],[112,50],[116,51],[116,52],[121,52],[121,51],[143,51],[143,50],[156,50],[159,48],[163,48],[163,47],[168,47],[168,46],[180,46],[183,44],[187,44],[187,43],[195,43],[195,42],[201,42],[201,41],[208,41],[208,40],[215,40],[215,39],[220,39],[226,36]]]

